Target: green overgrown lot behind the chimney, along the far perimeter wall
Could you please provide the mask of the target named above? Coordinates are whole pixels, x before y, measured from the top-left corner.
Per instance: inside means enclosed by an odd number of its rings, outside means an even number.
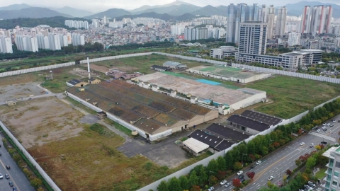
[[[181,62],[182,64],[186,64],[189,68],[193,66],[200,66],[203,64],[208,64],[205,62],[196,62],[187,59],[178,59],[174,57],[166,57],[159,54],[152,54],[149,56],[142,56],[142,57],[129,57],[123,59],[111,59],[102,62],[93,62],[91,64],[91,68],[98,69],[98,71],[108,71],[108,69],[120,69],[123,71],[128,72],[141,72],[143,74],[151,74],[154,71],[150,69],[152,65],[159,65],[163,66],[163,63],[166,61],[174,61],[174,62]],[[82,64],[85,66],[86,64]],[[92,66],[96,65],[96,66]]]

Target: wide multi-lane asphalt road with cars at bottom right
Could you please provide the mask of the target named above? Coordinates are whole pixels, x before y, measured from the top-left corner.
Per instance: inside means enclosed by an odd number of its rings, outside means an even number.
[[[336,120],[336,122],[331,122],[331,120]],[[262,158],[262,163],[258,166],[255,166],[253,169],[247,168],[244,170],[243,175],[246,177],[246,172],[254,171],[255,177],[254,180],[244,187],[242,190],[258,190],[263,186],[267,186],[269,176],[273,176],[273,180],[271,183],[279,185],[283,183],[283,175],[285,175],[285,171],[290,169],[293,171],[297,166],[295,165],[295,160],[299,158],[301,155],[310,153],[315,150],[314,146],[310,147],[311,144],[317,145],[320,144],[321,141],[327,141],[328,144],[335,144],[336,139],[340,136],[338,132],[340,131],[340,115],[337,115],[333,119],[327,121],[327,123],[333,124],[334,127],[327,127],[327,132],[323,132],[323,125],[319,125],[319,129],[321,132],[306,132],[302,137],[298,137],[295,141],[290,142],[287,146],[279,149],[274,152],[270,156],[266,158]],[[301,142],[305,142],[304,145],[300,145]],[[234,175],[231,179],[227,180],[227,182],[232,183],[232,180],[237,178],[237,175]],[[248,179],[248,178],[245,178]],[[222,187],[218,185],[215,187],[215,190],[224,191],[224,190],[232,190],[234,187]]]

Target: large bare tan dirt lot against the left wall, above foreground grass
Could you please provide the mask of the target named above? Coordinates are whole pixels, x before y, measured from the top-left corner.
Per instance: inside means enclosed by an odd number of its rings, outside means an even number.
[[[57,98],[40,98],[0,106],[0,120],[21,144],[32,146],[75,137],[83,130],[79,120],[83,114]]]

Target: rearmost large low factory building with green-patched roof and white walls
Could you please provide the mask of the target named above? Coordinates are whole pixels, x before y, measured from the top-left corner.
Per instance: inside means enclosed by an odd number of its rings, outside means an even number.
[[[187,70],[194,74],[203,74],[215,79],[224,79],[227,81],[236,81],[241,83],[249,83],[259,79],[265,79],[271,74],[263,74],[248,69],[238,69],[227,66],[196,66]]]

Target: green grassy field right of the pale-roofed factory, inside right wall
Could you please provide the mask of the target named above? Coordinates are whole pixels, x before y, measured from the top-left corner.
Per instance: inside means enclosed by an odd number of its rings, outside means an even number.
[[[275,76],[246,84],[246,87],[266,91],[267,97],[273,100],[256,110],[285,119],[340,95],[339,84],[290,76]]]

